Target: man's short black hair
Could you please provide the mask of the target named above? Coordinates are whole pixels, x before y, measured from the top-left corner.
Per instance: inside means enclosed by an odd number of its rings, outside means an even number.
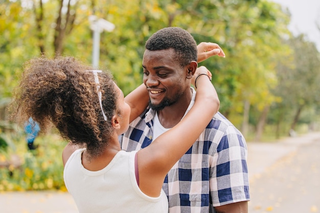
[[[172,48],[182,67],[191,61],[197,61],[196,41],[188,31],[178,27],[163,28],[155,32],[147,40],[145,48],[149,51]]]

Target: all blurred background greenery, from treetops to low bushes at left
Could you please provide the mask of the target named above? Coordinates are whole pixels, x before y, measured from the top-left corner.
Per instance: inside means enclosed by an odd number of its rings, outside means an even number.
[[[55,131],[28,150],[22,127],[8,117],[25,61],[41,54],[92,63],[96,15],[116,28],[102,32],[100,61],[125,94],[142,83],[144,43],[170,26],[197,41],[216,42],[226,58],[200,65],[213,74],[222,112],[248,141],[266,141],[320,128],[320,58],[313,42],[288,30],[290,14],[263,0],[0,0],[0,192],[65,191]],[[316,24],[316,23],[315,23]],[[320,20],[318,22],[320,24]]]

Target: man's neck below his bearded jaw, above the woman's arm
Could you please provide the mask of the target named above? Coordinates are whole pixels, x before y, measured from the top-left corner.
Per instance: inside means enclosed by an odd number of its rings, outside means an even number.
[[[159,122],[164,128],[172,128],[181,121],[192,99],[191,89],[189,91],[175,104],[157,111]]]

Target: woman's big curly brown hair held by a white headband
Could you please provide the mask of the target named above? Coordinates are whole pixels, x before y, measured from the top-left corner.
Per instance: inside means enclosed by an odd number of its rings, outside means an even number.
[[[26,62],[14,94],[14,119],[22,123],[32,117],[41,130],[53,124],[62,137],[84,145],[90,156],[99,156],[113,132],[117,92],[112,75],[99,73],[105,121],[91,69],[72,57]]]

